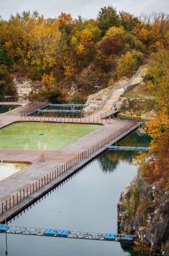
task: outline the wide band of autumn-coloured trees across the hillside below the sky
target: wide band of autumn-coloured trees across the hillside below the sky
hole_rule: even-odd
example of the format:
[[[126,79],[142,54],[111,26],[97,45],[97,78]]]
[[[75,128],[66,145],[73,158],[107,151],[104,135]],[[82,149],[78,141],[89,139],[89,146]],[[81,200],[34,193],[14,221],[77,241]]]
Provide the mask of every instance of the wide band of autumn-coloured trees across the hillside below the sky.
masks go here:
[[[131,75],[152,54],[168,47],[168,15],[137,18],[103,7],[97,20],[70,13],[44,18],[37,11],[0,20],[0,92],[14,94],[9,73],[42,81],[40,94],[62,96],[72,84],[82,94]]]

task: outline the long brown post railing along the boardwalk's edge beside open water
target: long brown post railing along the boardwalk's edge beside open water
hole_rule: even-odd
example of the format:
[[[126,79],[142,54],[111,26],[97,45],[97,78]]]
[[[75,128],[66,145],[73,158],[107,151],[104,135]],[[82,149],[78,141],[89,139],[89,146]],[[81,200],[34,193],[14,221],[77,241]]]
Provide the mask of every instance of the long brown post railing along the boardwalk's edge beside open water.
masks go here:
[[[70,170],[70,168],[76,166],[77,164],[80,164],[80,162],[87,160],[87,158],[90,158],[95,152],[105,147],[107,143],[110,143],[110,141],[113,141],[113,139],[119,137],[122,133],[125,133],[125,131],[135,126],[136,123],[132,121],[127,123],[126,125],[121,127],[121,129],[118,129],[117,131],[111,133],[111,135],[104,137],[103,139],[101,139],[101,141],[98,141],[93,146],[87,148],[87,150],[84,150],[80,154],[77,154],[76,156],[74,156],[74,158],[71,158],[64,164],[52,170],[52,172],[48,172],[46,175],[44,175],[37,181],[34,181],[34,183],[27,185],[26,187],[23,187],[23,189],[21,189],[20,191],[17,191],[15,195],[11,195],[10,197],[3,199],[1,201],[1,206],[0,206],[0,212],[1,212],[0,216],[5,214],[6,211],[11,210],[13,206],[21,203],[21,201],[23,201],[27,197],[30,197],[33,193],[40,191],[40,189],[42,189],[45,185],[56,180],[58,177],[61,178],[64,172],[66,172],[67,170]],[[56,181],[56,183],[58,182],[60,181]]]

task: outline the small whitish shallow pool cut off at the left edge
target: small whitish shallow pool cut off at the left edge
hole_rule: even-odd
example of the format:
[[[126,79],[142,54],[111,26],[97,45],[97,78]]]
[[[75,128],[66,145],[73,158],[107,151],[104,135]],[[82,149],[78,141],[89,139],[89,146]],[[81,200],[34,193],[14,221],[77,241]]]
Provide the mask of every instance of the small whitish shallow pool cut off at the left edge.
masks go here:
[[[0,181],[29,166],[24,163],[0,162]]]

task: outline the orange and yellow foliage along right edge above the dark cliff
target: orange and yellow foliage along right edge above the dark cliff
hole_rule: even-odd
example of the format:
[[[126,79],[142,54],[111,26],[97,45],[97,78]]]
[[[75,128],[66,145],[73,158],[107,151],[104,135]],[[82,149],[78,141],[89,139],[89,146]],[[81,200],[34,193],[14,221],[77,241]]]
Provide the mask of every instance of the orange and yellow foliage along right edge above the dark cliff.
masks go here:
[[[146,131],[152,137],[148,156],[141,154],[137,161],[141,174],[149,183],[169,190],[169,52],[152,54],[149,59],[146,83],[156,95],[158,112],[153,121],[146,122]]]

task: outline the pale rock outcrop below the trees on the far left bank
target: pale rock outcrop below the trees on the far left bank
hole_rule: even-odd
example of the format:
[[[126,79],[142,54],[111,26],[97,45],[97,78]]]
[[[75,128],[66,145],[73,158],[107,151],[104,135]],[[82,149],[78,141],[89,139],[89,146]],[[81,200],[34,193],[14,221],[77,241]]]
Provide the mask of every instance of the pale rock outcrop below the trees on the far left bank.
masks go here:
[[[40,91],[40,88],[42,87],[42,82],[36,81],[32,82],[31,79],[27,78],[19,78],[15,77],[13,78],[13,82],[15,84],[15,87],[17,89],[17,94],[19,97],[26,97],[30,93],[38,93]]]

